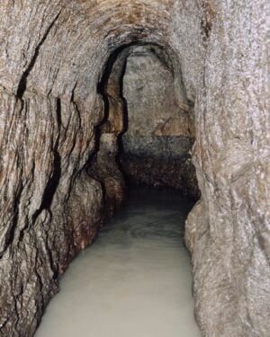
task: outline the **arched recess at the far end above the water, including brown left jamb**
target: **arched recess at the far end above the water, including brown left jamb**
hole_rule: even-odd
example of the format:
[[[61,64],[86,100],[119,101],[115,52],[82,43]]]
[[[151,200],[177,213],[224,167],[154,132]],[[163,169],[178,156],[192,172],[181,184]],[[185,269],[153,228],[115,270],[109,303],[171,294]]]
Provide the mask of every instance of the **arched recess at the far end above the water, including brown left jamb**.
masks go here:
[[[156,43],[132,42],[112,52],[104,68],[97,87],[104,118],[88,173],[103,183],[110,215],[126,184],[200,196],[191,162],[194,104],[172,55]]]

